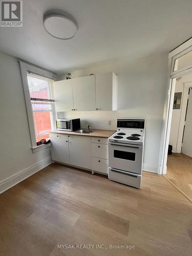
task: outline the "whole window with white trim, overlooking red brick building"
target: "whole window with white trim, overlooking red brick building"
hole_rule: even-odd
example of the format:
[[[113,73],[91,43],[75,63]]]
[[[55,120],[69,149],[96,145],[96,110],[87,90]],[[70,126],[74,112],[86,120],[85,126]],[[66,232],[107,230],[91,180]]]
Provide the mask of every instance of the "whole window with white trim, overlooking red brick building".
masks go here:
[[[55,129],[55,105],[53,81],[56,74],[20,61],[20,70],[24,86],[28,114],[31,148],[33,153],[43,147],[37,147],[37,141],[49,138],[49,131]],[[38,148],[38,149],[37,149]]]

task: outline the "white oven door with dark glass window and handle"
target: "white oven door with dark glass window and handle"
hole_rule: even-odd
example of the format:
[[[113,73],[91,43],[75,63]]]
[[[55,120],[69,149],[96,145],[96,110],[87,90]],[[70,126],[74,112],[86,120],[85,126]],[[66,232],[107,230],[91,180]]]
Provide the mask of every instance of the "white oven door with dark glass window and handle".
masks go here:
[[[109,167],[142,173],[143,146],[109,142]]]

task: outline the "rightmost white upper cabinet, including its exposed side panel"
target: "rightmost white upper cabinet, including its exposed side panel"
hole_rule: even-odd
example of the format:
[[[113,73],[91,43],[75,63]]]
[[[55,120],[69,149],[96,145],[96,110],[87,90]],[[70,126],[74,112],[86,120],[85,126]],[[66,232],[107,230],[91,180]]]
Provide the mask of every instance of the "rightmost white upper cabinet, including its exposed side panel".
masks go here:
[[[96,110],[117,110],[117,76],[113,73],[95,75]]]

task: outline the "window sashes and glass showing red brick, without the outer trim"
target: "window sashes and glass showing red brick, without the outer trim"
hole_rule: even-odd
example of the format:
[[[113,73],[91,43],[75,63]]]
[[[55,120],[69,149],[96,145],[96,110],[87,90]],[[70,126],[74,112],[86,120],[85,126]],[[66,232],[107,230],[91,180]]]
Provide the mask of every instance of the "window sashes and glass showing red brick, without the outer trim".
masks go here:
[[[49,138],[53,129],[52,79],[27,72],[36,141]]]

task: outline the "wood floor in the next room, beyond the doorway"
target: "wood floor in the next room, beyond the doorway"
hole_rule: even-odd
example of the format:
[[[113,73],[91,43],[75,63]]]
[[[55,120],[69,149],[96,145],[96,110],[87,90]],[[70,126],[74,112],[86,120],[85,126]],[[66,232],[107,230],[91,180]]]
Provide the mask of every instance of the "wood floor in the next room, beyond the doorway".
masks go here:
[[[166,179],[175,184],[192,202],[192,158],[184,154],[168,155]]]

